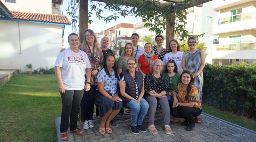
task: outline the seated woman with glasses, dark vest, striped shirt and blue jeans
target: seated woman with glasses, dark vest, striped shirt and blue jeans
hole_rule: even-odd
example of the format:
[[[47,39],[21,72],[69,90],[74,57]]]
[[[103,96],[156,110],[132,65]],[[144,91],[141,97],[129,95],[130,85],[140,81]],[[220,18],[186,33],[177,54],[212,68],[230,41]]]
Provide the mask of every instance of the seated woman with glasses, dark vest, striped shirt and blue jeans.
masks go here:
[[[139,134],[137,127],[141,132],[147,130],[142,126],[144,117],[148,112],[148,102],[143,99],[144,80],[143,76],[136,69],[136,59],[129,58],[127,60],[128,69],[121,73],[119,80],[121,99],[124,107],[131,109],[131,131],[133,134]]]

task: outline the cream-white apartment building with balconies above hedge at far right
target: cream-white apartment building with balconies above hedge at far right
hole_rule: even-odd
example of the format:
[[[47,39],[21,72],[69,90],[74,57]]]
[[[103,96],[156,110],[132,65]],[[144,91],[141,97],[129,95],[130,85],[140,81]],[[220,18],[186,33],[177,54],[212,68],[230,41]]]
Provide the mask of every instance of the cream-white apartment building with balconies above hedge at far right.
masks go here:
[[[212,48],[215,64],[256,61],[256,0],[214,0],[214,10],[213,34],[219,41]]]

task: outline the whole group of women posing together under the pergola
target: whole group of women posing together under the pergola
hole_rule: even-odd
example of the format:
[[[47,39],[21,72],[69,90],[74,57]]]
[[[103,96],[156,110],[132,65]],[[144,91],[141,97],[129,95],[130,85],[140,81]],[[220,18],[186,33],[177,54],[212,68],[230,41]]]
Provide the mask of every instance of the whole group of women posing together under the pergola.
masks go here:
[[[177,122],[177,118],[184,118],[181,125],[187,126],[187,131],[193,130],[195,121],[202,123],[197,116],[202,112],[205,56],[204,51],[196,49],[196,39],[190,37],[190,50],[182,53],[176,40],[171,40],[169,48],[164,49],[162,35],[156,36],[156,46],[145,43],[144,48],[138,45],[139,34],[133,33],[131,38],[132,43],[125,44],[116,63],[113,52],[107,48],[108,37],[103,37],[99,46],[90,29],[85,30],[82,45],[77,34],[68,36],[70,48],[61,49],[55,62],[62,99],[61,140],[68,139],[68,126],[71,133],[84,133],[76,124],[80,105],[83,128],[94,127],[94,103],[96,116],[101,119],[100,134],[113,133],[109,123],[123,113],[123,108],[131,112],[133,134],[139,134],[138,129],[147,131],[142,125],[147,113],[147,129],[158,133],[154,125],[158,105],[166,134],[172,133],[171,119]]]

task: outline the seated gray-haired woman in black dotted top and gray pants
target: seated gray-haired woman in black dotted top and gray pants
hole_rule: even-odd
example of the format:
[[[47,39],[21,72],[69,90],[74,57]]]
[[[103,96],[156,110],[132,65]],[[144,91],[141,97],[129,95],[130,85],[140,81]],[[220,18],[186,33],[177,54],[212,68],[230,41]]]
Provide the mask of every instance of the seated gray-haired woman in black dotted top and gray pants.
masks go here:
[[[144,98],[148,101],[148,130],[153,134],[158,134],[155,123],[155,114],[157,104],[162,108],[162,115],[164,117],[164,128],[166,134],[171,134],[172,129],[170,123],[170,108],[166,94],[169,93],[168,78],[161,73],[163,62],[159,59],[152,63],[151,73],[148,73],[144,79],[145,81],[145,95]]]

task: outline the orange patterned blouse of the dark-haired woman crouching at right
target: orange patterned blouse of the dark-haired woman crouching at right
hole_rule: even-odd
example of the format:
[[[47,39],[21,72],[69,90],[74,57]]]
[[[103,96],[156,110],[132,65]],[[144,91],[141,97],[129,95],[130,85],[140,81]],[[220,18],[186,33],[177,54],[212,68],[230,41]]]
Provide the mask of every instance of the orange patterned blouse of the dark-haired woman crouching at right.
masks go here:
[[[202,109],[201,103],[198,99],[198,90],[195,86],[192,86],[190,93],[188,94],[188,99],[185,99],[185,96],[187,94],[187,91],[182,89],[183,83],[179,83],[176,92],[178,93],[178,100],[179,102],[189,102],[189,101],[194,101],[196,102],[193,107],[200,108]]]

